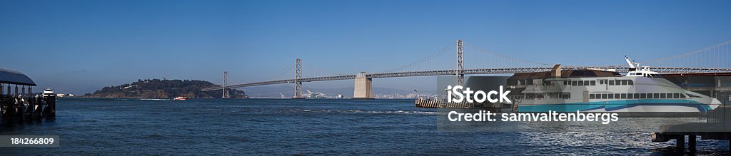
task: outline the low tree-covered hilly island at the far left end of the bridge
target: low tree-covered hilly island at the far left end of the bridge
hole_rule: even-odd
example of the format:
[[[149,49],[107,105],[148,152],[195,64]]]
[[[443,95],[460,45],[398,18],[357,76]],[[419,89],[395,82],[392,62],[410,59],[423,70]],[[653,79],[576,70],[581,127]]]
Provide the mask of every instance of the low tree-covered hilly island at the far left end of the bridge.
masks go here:
[[[202,80],[181,79],[137,79],[129,84],[104,87],[94,93],[85,95],[88,98],[221,98],[223,93],[203,92],[202,88],[216,87],[211,82]],[[231,98],[247,98],[242,90],[230,89]]]

